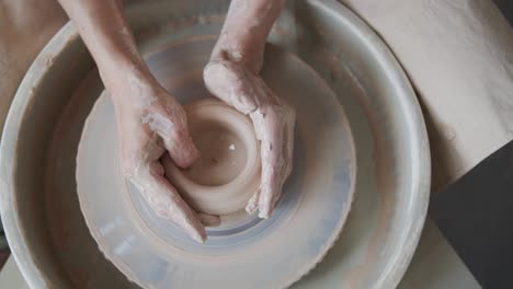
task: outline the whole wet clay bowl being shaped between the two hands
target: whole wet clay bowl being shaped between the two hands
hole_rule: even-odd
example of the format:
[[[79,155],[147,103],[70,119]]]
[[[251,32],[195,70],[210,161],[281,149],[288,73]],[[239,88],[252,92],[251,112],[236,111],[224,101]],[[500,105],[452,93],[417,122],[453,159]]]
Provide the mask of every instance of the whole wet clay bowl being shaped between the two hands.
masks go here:
[[[185,112],[200,158],[180,169],[166,155],[166,176],[198,212],[243,210],[260,186],[260,148],[251,120],[215,99],[193,102]]]

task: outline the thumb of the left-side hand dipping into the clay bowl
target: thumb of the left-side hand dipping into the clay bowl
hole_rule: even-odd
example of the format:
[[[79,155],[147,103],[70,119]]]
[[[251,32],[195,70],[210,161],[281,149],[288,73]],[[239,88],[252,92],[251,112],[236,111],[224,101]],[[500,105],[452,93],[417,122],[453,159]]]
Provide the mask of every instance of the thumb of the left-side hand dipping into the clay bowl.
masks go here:
[[[189,167],[200,158],[200,151],[194,144],[187,127],[161,134],[161,138],[169,155],[178,166]]]

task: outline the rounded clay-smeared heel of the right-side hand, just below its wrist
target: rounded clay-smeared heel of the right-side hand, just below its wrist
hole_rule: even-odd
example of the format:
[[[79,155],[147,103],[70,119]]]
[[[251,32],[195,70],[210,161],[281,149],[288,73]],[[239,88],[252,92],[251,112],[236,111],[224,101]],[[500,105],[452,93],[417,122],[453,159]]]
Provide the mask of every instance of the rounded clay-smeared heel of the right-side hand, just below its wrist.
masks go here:
[[[209,62],[203,72],[208,91],[243,114],[258,106],[251,77],[242,66],[224,60]]]

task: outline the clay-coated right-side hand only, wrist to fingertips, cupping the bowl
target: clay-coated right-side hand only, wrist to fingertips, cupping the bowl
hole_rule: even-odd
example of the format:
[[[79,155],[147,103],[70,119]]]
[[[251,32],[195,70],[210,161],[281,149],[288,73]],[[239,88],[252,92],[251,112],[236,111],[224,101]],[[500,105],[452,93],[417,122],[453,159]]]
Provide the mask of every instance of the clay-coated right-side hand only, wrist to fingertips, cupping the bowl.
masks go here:
[[[253,122],[261,141],[262,178],[260,192],[251,197],[246,210],[259,210],[259,217],[266,219],[292,171],[295,112],[240,61],[212,60],[205,67],[204,80],[214,95]]]

